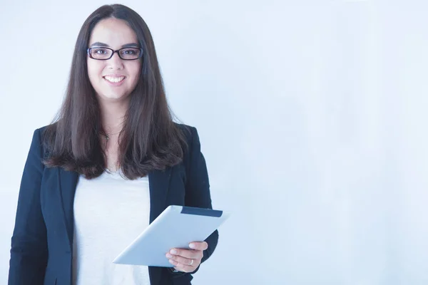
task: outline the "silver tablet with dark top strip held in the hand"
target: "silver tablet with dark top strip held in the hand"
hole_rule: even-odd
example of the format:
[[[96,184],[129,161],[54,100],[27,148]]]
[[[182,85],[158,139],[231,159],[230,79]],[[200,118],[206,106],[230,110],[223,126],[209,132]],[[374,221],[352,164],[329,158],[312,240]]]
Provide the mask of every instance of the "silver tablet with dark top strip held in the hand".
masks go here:
[[[229,215],[216,209],[168,206],[113,263],[173,267],[165,257],[170,249],[190,249],[190,242],[203,242]]]

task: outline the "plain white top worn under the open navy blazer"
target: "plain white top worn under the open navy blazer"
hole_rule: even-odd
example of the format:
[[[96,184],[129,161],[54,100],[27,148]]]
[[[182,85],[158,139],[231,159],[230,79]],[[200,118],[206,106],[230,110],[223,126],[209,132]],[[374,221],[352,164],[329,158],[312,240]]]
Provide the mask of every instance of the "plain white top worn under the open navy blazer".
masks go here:
[[[148,266],[113,259],[149,224],[148,177],[127,180],[120,172],[79,177],[74,197],[73,284],[149,285]]]

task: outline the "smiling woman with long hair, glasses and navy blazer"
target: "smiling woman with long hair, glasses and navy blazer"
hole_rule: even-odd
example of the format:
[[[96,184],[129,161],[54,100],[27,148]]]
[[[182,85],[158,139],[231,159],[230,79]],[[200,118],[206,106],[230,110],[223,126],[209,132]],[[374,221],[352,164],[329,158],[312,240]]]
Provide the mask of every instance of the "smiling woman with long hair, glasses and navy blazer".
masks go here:
[[[141,16],[102,6],[78,34],[58,118],[34,132],[9,284],[190,284],[217,231],[165,254],[174,269],[111,262],[170,204],[211,208],[198,133],[173,123]]]

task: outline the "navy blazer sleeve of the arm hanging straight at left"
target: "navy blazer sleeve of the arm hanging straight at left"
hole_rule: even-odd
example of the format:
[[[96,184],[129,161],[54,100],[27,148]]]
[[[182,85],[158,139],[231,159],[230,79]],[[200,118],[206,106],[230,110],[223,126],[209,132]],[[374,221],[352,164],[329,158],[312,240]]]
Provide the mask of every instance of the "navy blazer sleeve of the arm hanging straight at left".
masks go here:
[[[9,285],[43,284],[48,259],[46,225],[41,213],[40,187],[44,165],[40,130],[35,130],[19,189],[11,238]]]

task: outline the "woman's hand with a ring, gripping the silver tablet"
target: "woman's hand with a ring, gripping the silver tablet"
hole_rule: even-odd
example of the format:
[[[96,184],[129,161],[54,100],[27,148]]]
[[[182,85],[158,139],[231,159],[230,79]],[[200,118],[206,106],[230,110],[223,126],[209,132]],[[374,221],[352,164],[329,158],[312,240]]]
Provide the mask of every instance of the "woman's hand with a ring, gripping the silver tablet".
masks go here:
[[[189,244],[191,249],[171,249],[166,258],[169,259],[170,264],[174,265],[174,269],[183,272],[193,272],[200,265],[203,257],[203,251],[208,249],[206,242],[191,242]]]

